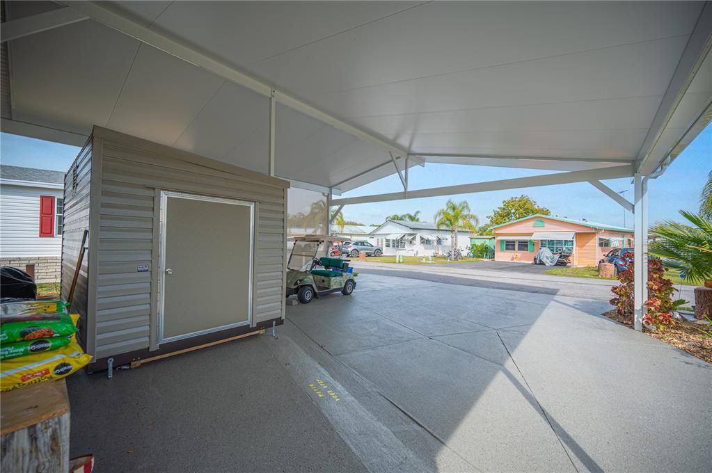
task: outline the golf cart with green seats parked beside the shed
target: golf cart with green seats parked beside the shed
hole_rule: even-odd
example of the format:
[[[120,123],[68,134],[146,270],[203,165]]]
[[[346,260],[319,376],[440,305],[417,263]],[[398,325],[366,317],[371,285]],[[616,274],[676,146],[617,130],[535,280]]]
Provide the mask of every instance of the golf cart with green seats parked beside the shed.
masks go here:
[[[297,294],[299,302],[308,304],[314,297],[340,291],[350,295],[356,287],[349,260],[339,257],[317,257],[322,243],[342,243],[347,238],[330,235],[304,235],[294,238],[287,263],[287,297]]]

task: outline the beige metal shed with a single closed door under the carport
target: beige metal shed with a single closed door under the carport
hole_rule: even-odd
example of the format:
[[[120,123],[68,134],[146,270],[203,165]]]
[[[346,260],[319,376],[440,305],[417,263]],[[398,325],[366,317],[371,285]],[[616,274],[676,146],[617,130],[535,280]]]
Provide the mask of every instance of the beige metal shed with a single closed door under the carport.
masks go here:
[[[282,324],[287,181],[109,129],[65,180],[62,295],[90,371]]]

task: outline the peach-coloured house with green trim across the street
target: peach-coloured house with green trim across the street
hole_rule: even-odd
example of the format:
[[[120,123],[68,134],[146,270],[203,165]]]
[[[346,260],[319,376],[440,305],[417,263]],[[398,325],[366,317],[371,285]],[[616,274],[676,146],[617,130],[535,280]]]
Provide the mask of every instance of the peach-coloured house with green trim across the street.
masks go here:
[[[612,248],[633,246],[633,230],[614,225],[533,215],[495,225],[496,261],[533,262],[539,248],[572,251],[575,266],[595,266]]]

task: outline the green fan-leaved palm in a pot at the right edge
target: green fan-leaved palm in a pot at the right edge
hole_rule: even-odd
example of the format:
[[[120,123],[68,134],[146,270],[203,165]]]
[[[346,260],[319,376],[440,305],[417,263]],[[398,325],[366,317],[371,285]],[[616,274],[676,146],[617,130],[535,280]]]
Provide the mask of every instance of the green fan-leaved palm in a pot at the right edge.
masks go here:
[[[712,221],[701,215],[680,211],[692,225],[665,220],[654,225],[656,237],[648,253],[663,258],[667,267],[679,270],[689,282],[712,287]],[[712,292],[695,289],[695,317],[712,317]]]

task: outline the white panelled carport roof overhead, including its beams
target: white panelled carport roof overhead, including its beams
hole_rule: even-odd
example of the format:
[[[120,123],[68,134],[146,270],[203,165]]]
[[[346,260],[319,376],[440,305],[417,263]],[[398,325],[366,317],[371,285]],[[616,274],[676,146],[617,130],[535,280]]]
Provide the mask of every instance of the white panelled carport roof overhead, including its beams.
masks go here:
[[[709,2],[4,4],[4,131],[98,124],[319,188],[389,153],[649,174],[712,115]]]

